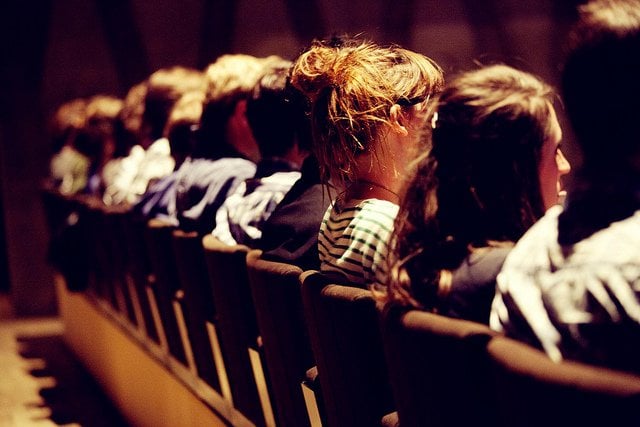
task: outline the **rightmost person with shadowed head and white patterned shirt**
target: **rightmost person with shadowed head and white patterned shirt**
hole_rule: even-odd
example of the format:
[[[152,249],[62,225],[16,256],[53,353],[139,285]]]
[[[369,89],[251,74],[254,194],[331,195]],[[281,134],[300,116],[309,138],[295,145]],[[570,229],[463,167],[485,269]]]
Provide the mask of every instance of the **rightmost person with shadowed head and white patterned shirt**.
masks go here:
[[[556,361],[639,373],[640,5],[589,2],[570,40],[562,91],[583,163],[505,261],[491,326]]]

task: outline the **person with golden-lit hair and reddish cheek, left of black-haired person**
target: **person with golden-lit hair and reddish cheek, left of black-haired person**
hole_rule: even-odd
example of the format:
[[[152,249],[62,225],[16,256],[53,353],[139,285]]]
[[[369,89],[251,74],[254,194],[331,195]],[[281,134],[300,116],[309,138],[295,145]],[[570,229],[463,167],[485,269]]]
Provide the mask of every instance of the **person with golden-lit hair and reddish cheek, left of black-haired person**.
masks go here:
[[[193,145],[180,167],[144,195],[138,204],[144,216],[184,231],[211,232],[222,203],[255,175],[259,153],[247,123],[247,99],[269,64],[280,60],[223,55],[207,67],[204,99],[189,107],[199,116],[190,129]]]

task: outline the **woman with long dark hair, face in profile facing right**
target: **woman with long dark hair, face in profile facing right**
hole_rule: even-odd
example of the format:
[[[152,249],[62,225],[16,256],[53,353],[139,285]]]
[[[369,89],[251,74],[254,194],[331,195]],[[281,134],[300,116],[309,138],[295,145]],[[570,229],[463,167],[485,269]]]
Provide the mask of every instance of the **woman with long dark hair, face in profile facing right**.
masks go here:
[[[379,287],[388,303],[489,323],[507,253],[569,171],[552,101],[549,86],[504,65],[446,85],[396,218]]]

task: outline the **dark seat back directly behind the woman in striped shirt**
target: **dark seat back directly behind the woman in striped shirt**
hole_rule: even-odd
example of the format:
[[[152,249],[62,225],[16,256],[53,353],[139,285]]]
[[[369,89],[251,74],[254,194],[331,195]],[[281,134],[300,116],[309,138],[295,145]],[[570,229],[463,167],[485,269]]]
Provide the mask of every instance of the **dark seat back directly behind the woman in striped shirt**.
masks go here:
[[[371,292],[317,271],[301,281],[328,425],[380,425],[394,404]]]

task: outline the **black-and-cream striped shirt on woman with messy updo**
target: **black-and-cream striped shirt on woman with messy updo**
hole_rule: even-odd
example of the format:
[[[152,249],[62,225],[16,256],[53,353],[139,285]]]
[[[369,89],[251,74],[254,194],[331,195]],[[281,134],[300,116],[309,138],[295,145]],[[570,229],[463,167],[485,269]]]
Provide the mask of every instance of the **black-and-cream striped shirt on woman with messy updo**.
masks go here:
[[[320,234],[320,270],[336,273],[350,284],[367,286],[386,277],[387,242],[398,205],[378,200],[356,200],[327,209]]]

